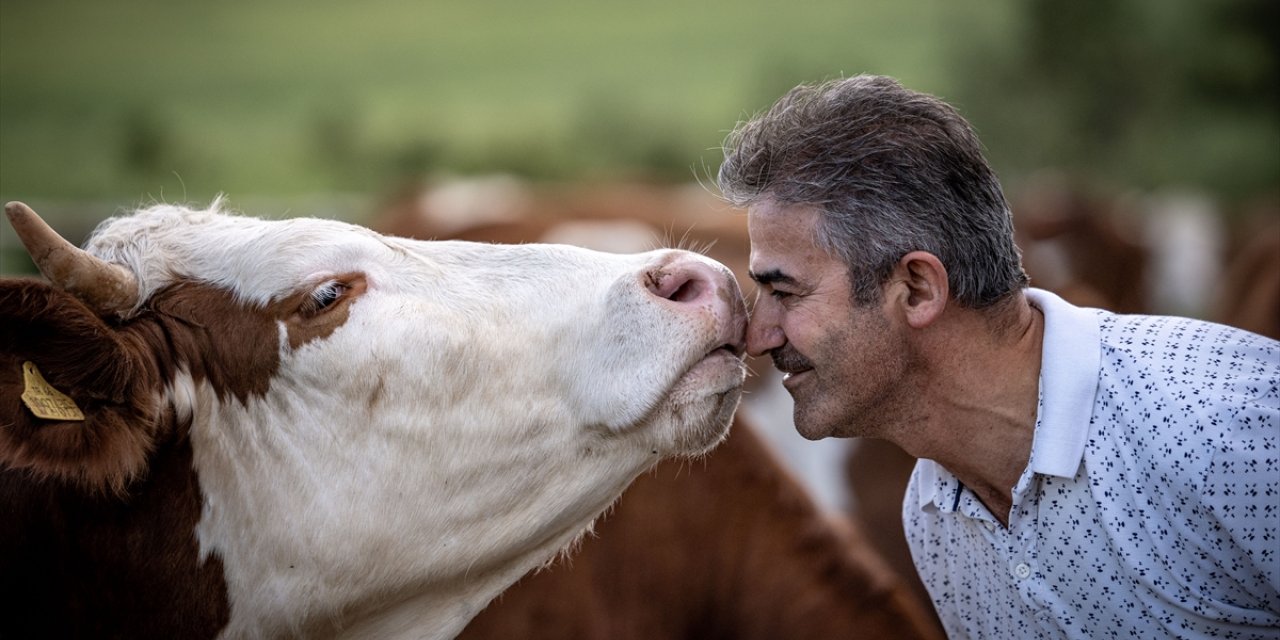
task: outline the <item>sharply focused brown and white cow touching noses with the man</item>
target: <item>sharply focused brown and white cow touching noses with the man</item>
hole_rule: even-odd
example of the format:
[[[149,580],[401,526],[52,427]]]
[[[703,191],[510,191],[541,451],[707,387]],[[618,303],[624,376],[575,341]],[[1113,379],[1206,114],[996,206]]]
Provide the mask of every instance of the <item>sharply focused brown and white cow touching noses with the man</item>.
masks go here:
[[[737,406],[705,257],[218,209],[6,206],[0,636],[449,637]]]

